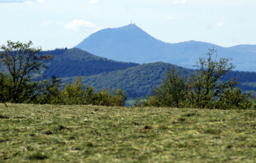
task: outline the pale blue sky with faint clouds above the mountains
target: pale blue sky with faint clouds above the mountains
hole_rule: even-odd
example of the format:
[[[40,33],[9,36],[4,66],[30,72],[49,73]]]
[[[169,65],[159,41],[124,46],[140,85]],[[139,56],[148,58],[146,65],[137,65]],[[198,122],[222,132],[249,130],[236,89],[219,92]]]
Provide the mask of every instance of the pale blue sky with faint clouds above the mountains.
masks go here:
[[[135,23],[169,43],[256,44],[255,0],[0,0],[0,45],[73,48],[92,33]]]

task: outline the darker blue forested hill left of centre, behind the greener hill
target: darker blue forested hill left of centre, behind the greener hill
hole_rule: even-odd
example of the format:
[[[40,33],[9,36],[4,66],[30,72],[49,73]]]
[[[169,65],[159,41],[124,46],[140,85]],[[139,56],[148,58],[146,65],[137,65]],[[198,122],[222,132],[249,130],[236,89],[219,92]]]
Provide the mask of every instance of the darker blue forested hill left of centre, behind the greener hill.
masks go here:
[[[90,76],[103,72],[126,69],[138,63],[118,62],[98,57],[80,49],[56,49],[44,51],[55,56],[46,69],[45,75],[62,77]]]

